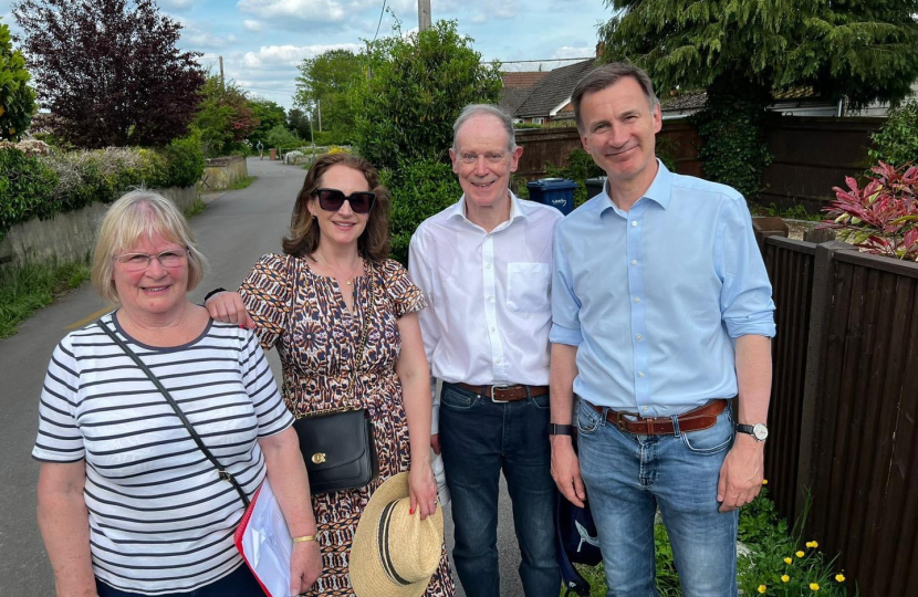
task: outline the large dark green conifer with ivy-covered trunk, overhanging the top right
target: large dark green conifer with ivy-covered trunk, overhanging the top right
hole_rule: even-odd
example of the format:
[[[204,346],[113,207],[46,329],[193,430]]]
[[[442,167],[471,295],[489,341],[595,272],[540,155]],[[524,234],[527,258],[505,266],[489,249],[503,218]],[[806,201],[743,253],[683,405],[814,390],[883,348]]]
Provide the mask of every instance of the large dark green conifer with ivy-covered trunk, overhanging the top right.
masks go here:
[[[915,0],[605,3],[615,15],[599,29],[603,59],[636,63],[665,92],[707,88],[706,175],[747,196],[770,159],[762,121],[774,91],[807,88],[859,107],[901,101],[918,77]]]

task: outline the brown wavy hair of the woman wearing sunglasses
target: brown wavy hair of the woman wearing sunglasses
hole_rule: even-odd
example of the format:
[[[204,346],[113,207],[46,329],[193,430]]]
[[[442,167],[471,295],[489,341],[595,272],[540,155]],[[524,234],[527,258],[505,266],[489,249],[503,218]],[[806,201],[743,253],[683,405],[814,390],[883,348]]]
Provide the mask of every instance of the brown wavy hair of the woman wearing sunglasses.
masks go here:
[[[376,193],[376,202],[369,212],[357,251],[369,261],[383,261],[389,256],[389,190],[379,181],[379,172],[367,160],[352,154],[325,154],[310,168],[303,188],[296,196],[293,216],[290,218],[290,234],[283,239],[283,251],[289,255],[304,256],[319,248],[319,224],[309,210],[310,201],[315,199],[315,191],[322,188],[322,177],[332,166],[347,166],[364,175],[369,190]]]

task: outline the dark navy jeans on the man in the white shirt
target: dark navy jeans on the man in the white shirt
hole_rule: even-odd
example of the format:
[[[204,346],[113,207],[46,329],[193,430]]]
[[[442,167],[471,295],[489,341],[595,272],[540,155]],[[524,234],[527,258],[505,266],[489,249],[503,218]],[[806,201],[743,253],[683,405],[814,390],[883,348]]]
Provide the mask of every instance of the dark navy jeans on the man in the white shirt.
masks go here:
[[[456,572],[469,597],[500,596],[500,472],[513,503],[526,597],[557,597],[549,396],[492,402],[452,384],[440,396],[440,448],[456,524]]]

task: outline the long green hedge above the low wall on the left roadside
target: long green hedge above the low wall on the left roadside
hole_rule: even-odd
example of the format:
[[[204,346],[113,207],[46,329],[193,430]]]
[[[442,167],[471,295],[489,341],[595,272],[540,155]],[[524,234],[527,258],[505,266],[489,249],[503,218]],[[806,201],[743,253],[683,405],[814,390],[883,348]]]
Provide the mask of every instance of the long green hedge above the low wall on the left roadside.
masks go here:
[[[30,157],[0,149],[0,240],[11,227],[92,202],[111,203],[137,187],[190,187],[204,174],[200,139],[163,149],[109,147]]]

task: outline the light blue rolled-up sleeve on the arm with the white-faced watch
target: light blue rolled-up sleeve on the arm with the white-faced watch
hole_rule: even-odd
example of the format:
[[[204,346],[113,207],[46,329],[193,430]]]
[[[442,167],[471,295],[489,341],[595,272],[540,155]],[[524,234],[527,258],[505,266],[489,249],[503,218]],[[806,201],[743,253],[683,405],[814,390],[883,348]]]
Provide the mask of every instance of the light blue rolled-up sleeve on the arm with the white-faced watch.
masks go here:
[[[716,264],[723,285],[720,310],[731,338],[774,337],[774,302],[752,218],[742,197],[728,198],[718,222]]]

